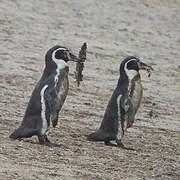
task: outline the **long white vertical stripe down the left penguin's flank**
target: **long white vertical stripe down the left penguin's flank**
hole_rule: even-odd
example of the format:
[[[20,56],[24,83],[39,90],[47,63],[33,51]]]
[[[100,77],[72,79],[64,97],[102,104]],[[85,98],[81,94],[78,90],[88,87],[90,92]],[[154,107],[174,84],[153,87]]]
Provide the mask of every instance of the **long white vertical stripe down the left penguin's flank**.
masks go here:
[[[40,96],[41,96],[41,118],[42,118],[42,129],[41,129],[41,133],[45,134],[47,132],[48,129],[48,124],[47,124],[47,120],[46,120],[46,104],[45,104],[45,100],[44,100],[44,92],[46,90],[46,88],[48,87],[48,85],[45,85],[40,92]]]

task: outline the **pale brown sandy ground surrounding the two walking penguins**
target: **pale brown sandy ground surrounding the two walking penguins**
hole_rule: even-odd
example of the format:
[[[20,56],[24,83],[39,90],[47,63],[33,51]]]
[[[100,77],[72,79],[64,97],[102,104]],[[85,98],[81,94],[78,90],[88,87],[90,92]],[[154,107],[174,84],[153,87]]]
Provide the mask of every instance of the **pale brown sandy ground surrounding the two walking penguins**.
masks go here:
[[[180,1],[1,0],[0,179],[180,179]],[[64,45],[76,54],[88,43],[78,88],[70,63],[69,96],[50,129],[52,142],[12,141],[46,51]],[[124,57],[153,66],[142,72],[144,97],[125,144],[135,151],[89,142],[100,125]],[[152,115],[152,116],[151,116]]]

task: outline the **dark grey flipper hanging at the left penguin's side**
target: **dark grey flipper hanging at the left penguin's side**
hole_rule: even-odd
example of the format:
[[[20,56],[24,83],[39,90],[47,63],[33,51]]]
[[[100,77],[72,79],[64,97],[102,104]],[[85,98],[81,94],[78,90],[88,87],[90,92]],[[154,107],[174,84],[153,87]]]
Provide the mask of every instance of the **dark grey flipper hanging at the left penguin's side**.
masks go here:
[[[59,98],[56,89],[54,87],[51,89],[47,89],[44,94],[44,98],[49,107],[52,125],[53,127],[56,127],[59,115]]]

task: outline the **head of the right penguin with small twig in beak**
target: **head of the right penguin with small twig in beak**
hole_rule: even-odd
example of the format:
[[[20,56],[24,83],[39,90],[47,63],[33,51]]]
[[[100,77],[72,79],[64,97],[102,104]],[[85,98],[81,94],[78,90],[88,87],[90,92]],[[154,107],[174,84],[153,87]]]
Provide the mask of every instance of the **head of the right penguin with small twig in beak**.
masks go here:
[[[125,73],[128,78],[133,78],[139,73],[139,70],[146,70],[150,72],[153,68],[134,56],[125,58],[120,65],[120,74]]]

